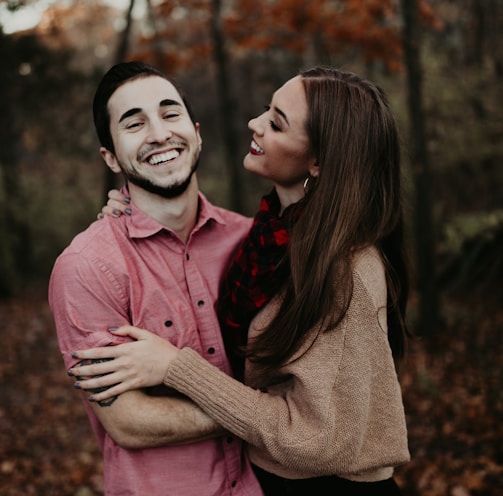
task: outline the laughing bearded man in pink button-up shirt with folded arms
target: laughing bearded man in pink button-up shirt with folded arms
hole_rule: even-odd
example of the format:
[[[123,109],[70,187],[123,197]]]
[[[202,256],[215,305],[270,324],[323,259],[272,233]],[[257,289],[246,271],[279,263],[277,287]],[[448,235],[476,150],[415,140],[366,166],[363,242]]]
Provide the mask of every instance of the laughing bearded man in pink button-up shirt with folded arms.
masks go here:
[[[93,223],[55,263],[49,302],[67,369],[72,351],[118,344],[124,338],[107,329],[129,323],[230,373],[214,303],[251,220],[199,192],[199,124],[163,74],[137,62],[112,67],[93,111],[101,156],[126,179],[134,215]],[[241,441],[174,392],[83,399],[107,496],[262,494]]]

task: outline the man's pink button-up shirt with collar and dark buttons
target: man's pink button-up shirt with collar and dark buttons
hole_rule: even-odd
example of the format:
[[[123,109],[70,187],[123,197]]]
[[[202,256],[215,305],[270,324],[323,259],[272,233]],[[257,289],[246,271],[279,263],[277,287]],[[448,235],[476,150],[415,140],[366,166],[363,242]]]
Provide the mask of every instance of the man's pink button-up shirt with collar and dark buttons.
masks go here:
[[[59,256],[49,302],[67,368],[76,362],[72,351],[119,343],[125,338],[107,328],[130,323],[190,346],[230,373],[214,303],[251,219],[217,208],[203,195],[199,206],[186,244],[132,206],[131,217],[94,222]],[[84,404],[103,451],[107,495],[262,494],[239,439],[127,450]]]

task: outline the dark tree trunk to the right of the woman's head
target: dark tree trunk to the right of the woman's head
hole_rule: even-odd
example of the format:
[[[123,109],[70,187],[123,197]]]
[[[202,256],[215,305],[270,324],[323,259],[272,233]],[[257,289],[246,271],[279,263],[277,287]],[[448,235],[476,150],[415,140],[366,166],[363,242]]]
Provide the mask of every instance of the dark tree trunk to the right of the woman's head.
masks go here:
[[[439,326],[438,292],[435,274],[435,236],[432,215],[432,182],[426,143],[422,103],[422,69],[417,23],[417,1],[401,0],[403,40],[407,67],[410,118],[411,167],[415,185],[415,251],[419,295],[418,333],[431,336]]]

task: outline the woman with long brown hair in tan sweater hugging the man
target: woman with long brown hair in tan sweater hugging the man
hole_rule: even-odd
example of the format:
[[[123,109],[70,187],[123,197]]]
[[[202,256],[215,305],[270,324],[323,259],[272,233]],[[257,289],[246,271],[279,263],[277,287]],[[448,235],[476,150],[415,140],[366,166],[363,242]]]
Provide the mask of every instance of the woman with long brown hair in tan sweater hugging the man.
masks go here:
[[[137,342],[76,353],[120,361],[73,372],[108,374],[82,389],[116,384],[96,401],[161,383],[187,395],[248,442],[266,494],[400,494],[393,469],[409,453],[394,358],[407,277],[389,104],[371,82],[319,67],[278,89],[249,128],[244,166],[274,190],[219,305],[244,384],[133,327],[112,332]]]

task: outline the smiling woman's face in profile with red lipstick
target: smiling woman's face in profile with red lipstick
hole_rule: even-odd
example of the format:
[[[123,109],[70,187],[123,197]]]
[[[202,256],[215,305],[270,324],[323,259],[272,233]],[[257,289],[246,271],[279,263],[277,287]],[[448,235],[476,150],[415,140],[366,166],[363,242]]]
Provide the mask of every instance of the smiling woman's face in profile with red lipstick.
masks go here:
[[[248,123],[253,140],[245,169],[271,179],[278,190],[303,195],[306,178],[317,175],[316,160],[309,153],[307,114],[304,85],[296,76],[274,93],[262,115]]]

